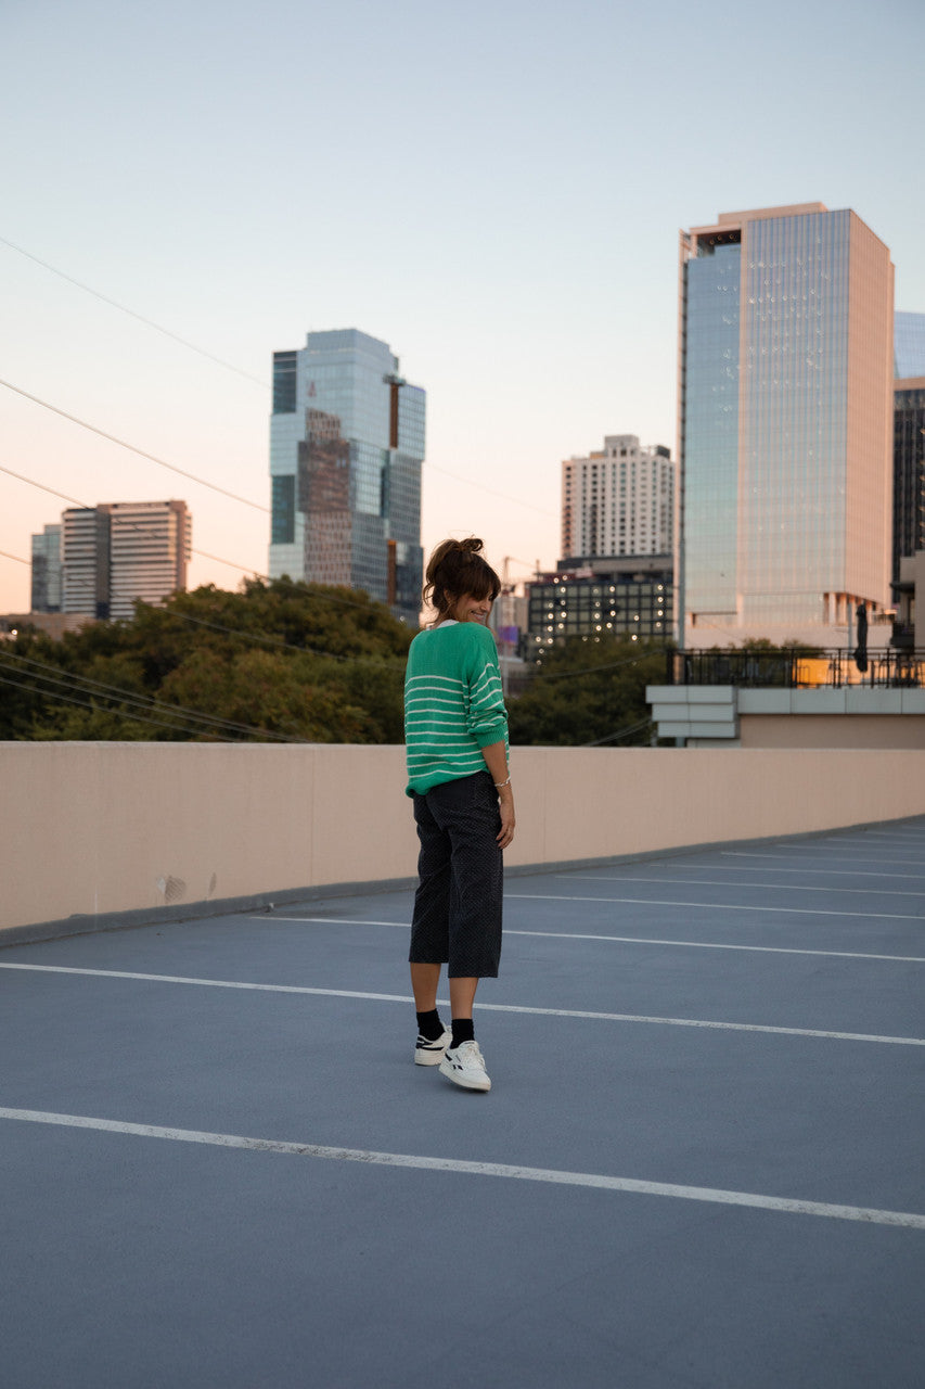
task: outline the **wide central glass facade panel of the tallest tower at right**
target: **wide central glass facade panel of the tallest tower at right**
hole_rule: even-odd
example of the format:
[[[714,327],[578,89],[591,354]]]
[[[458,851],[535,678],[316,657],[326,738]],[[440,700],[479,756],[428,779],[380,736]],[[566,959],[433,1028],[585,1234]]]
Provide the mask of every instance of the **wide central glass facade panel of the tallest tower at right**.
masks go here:
[[[821,213],[747,228],[739,563],[746,621],[822,622],[824,593],[844,588],[849,219]]]

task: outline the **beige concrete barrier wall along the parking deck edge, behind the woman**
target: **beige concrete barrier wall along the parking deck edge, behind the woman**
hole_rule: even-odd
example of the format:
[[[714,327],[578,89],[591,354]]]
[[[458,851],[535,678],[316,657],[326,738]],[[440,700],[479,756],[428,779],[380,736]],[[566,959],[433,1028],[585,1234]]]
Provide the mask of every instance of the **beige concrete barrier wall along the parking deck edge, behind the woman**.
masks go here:
[[[925,813],[925,750],[515,747],[510,865]],[[0,931],[410,878],[403,747],[0,743]]]

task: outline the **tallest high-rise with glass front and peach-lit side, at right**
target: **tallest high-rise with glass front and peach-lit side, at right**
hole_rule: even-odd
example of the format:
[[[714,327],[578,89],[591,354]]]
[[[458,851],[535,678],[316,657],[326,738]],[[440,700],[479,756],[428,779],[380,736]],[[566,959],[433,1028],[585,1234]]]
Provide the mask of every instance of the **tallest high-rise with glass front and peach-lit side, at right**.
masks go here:
[[[858,603],[888,606],[892,386],[893,265],[853,211],[681,233],[688,640],[836,644]]]

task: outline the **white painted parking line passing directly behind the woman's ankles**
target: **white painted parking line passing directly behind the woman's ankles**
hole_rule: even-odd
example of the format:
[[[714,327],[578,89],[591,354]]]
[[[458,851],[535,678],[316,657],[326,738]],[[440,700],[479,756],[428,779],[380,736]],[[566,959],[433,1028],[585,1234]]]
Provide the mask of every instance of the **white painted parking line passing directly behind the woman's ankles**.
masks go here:
[[[0,964],[0,970],[33,970],[43,974],[79,974],[103,979],[140,979],[146,983],[192,983],[206,989],[251,989],[258,993],[307,993],[329,999],[361,999],[374,1003],[412,1003],[410,996],[400,993],[362,993],[353,989],[311,989],[294,983],[242,983],[229,979],[196,979],[172,974],[129,974],[124,970],[78,970],[74,965],[53,964]],[[447,999],[438,1000],[440,1006]],[[835,1042],[883,1042],[890,1046],[925,1046],[925,1038],[888,1038],[869,1032],[819,1032],[812,1028],[775,1028],[760,1022],[712,1022],[701,1018],[656,1018],[638,1013],[589,1013],[579,1008],[533,1008],[514,1003],[478,1003],[486,1013],[525,1013],[543,1018],[583,1018],[594,1022],[650,1022],[674,1028],[708,1028],[719,1032],[771,1032],[776,1036],[826,1038]]]

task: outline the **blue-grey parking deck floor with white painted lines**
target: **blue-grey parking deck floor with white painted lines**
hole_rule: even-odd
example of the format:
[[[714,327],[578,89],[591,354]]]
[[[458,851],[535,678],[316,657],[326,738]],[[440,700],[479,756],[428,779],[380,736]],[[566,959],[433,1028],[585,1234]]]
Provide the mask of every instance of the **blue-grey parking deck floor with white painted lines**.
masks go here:
[[[899,1389],[925,818],[511,876],[490,1095],[408,892],[0,951],[4,1389]]]

